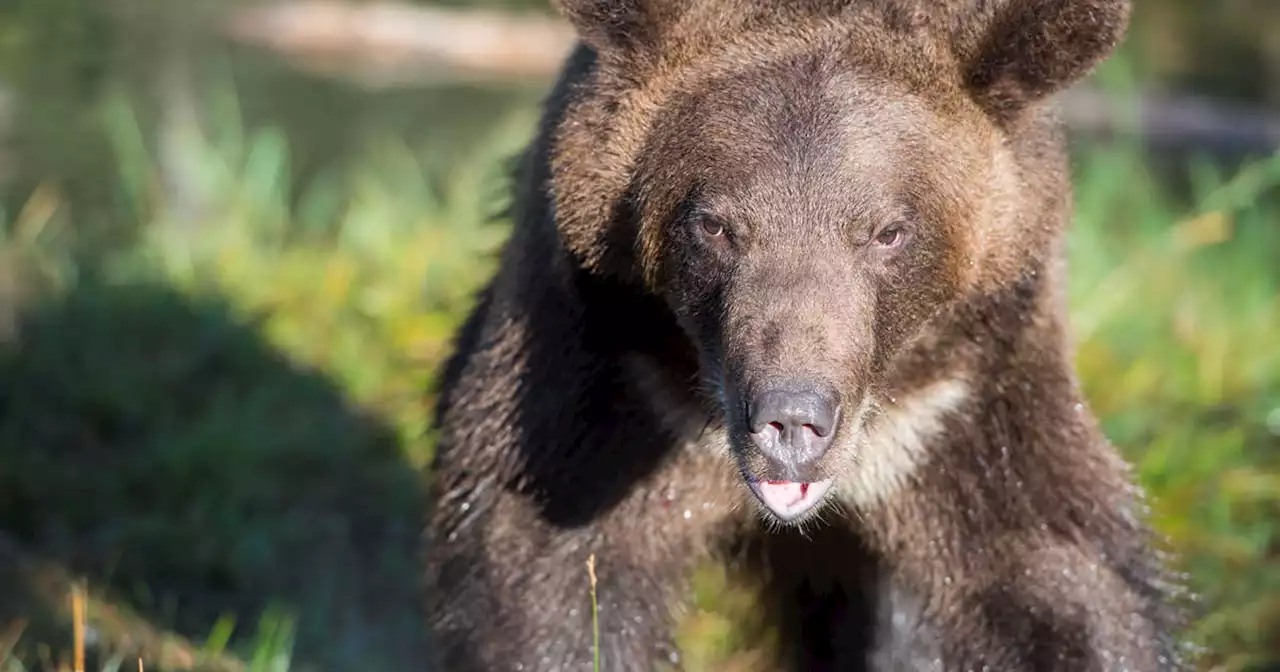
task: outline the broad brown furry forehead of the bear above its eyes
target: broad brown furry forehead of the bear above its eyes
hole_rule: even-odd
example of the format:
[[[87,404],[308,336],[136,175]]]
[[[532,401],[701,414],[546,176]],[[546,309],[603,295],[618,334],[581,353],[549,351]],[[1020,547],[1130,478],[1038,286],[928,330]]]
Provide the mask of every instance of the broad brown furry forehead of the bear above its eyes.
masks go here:
[[[805,54],[686,84],[657,109],[637,168],[726,216],[812,205],[893,218],[905,201],[965,198],[964,186],[983,178],[992,138],[973,119],[874,70]]]

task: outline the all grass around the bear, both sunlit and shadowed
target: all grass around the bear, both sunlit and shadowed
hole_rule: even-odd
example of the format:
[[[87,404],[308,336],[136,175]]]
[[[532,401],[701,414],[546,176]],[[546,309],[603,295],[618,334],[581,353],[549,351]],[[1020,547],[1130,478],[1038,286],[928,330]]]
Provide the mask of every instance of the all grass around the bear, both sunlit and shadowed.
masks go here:
[[[125,250],[84,255],[56,184],[3,218],[3,672],[76,649],[68,623],[87,623],[92,669],[424,655],[425,390],[493,271],[500,159],[534,110],[466,161],[378,137],[300,189],[284,136],[243,128],[232,91],[206,91],[216,124],[180,147],[196,207],[169,197],[127,101],[104,104],[140,223]],[[1280,160],[1193,163],[1187,206],[1132,147],[1078,159],[1087,394],[1202,595],[1188,636],[1203,668],[1280,664]],[[67,613],[74,577],[83,618]],[[749,591],[716,567],[695,586],[684,660],[749,668],[768,643]]]

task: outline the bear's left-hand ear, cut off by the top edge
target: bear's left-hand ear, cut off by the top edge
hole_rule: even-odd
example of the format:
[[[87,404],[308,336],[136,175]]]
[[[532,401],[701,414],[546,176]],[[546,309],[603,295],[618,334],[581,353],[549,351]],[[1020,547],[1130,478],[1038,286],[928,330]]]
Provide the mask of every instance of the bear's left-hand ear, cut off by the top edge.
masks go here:
[[[680,0],[552,0],[552,5],[596,51],[652,45]]]

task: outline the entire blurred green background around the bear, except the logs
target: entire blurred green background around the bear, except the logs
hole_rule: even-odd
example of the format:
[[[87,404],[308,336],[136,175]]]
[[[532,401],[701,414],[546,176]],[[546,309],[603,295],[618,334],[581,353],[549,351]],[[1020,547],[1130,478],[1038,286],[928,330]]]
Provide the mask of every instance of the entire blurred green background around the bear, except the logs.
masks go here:
[[[248,4],[0,3],[0,672],[426,650],[428,390],[548,82],[325,73],[218,29]],[[1280,3],[1139,3],[1092,83],[1277,116]],[[1201,668],[1276,671],[1280,137],[1219,140],[1076,137],[1070,298]],[[751,669],[750,593],[695,585],[690,669]]]

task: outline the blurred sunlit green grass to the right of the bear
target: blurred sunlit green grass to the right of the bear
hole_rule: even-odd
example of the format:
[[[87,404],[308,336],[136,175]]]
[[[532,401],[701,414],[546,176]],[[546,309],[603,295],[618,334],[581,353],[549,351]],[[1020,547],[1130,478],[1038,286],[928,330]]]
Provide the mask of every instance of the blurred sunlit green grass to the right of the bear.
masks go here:
[[[1082,166],[1071,308],[1091,403],[1203,598],[1192,634],[1248,669],[1280,660],[1280,157],[1197,168],[1175,218],[1130,156]]]

